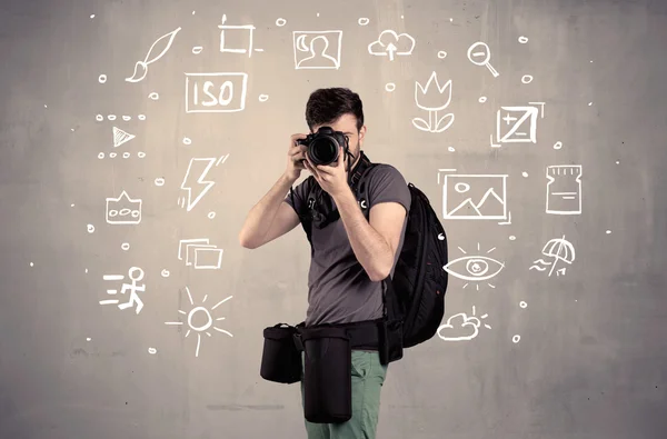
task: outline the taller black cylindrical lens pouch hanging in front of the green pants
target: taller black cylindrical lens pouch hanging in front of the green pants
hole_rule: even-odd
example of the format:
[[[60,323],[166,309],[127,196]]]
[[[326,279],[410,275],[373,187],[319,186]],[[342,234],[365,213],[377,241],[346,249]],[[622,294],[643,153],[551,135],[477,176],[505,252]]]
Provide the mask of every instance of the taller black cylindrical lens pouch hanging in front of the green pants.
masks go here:
[[[338,423],[352,417],[352,352],[345,329],[301,329],[303,413],[309,422]]]

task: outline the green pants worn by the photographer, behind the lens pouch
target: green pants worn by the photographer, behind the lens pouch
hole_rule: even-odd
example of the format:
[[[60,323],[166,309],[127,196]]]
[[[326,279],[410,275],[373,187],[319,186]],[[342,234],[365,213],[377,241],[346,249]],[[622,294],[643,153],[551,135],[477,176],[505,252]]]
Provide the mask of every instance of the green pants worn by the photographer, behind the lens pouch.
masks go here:
[[[380,390],[386,376],[387,366],[380,365],[378,352],[352,350],[352,418],[342,423],[313,423],[305,420],[308,439],[375,439]]]

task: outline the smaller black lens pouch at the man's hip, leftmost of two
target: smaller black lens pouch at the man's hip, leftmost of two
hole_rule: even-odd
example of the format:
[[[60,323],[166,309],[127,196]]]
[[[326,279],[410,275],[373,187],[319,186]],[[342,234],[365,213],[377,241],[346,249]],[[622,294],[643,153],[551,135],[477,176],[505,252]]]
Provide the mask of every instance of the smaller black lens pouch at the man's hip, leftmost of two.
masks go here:
[[[291,385],[301,380],[301,352],[297,350],[293,335],[297,328],[278,323],[263,330],[263,352],[259,375],[261,378]]]

